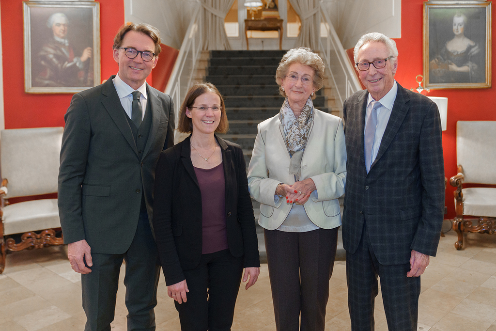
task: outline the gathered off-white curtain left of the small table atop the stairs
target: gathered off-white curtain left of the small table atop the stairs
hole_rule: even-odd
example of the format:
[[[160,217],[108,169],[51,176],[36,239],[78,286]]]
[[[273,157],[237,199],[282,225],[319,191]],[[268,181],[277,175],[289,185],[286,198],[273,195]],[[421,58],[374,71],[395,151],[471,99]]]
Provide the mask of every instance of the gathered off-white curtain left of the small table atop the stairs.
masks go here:
[[[234,0],[201,0],[203,10],[203,50],[230,50],[224,19]]]

